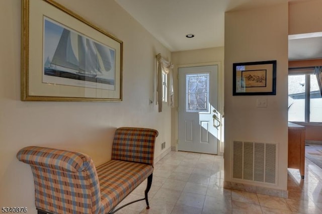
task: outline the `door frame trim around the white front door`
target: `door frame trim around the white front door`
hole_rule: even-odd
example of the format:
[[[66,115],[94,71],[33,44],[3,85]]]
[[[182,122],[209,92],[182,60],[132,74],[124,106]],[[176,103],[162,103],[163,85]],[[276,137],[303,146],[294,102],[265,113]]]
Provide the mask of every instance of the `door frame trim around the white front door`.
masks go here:
[[[205,62],[205,63],[194,63],[194,64],[182,64],[175,66],[175,73],[174,73],[174,83],[175,85],[175,108],[172,109],[172,124],[173,124],[173,137],[172,137],[172,151],[178,151],[179,148],[179,112],[178,112],[178,105],[179,105],[179,68],[183,67],[198,67],[198,66],[208,66],[208,65],[217,65],[218,66],[218,113],[220,115],[220,132],[218,133],[219,141],[218,141],[218,148],[217,148],[217,155],[223,156],[224,153],[224,75],[223,75],[223,68],[222,62],[214,61],[214,62]]]

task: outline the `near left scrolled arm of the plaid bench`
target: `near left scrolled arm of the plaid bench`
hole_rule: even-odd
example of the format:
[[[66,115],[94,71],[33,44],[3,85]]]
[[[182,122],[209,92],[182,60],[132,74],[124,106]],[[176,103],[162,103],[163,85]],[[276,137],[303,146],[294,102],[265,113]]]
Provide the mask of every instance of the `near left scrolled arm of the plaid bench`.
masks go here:
[[[99,213],[100,184],[88,155],[28,146],[18,152],[17,158],[31,166],[38,213]]]

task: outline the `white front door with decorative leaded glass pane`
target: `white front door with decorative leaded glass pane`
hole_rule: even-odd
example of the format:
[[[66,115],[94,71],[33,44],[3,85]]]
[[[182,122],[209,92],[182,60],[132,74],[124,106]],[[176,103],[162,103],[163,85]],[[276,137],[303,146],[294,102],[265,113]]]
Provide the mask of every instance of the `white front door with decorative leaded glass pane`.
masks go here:
[[[217,154],[218,65],[179,68],[179,150]]]

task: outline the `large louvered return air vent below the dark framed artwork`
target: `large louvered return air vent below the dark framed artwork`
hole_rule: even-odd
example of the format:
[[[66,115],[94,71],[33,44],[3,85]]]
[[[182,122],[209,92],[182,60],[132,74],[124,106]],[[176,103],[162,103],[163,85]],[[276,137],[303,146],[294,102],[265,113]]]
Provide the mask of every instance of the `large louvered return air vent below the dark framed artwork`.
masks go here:
[[[233,141],[232,177],[276,184],[276,143]]]

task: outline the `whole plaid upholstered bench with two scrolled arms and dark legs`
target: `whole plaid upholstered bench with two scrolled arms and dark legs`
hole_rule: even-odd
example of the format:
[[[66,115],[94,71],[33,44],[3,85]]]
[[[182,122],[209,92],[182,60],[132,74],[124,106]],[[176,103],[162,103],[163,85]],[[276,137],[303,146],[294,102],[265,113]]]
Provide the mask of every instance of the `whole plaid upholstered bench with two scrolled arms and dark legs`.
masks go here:
[[[17,158],[31,166],[38,214],[114,213],[140,200],[149,208],[157,135],[153,129],[117,129],[112,160],[97,167],[83,153],[37,146],[21,149]],[[115,209],[146,178],[145,197]]]

